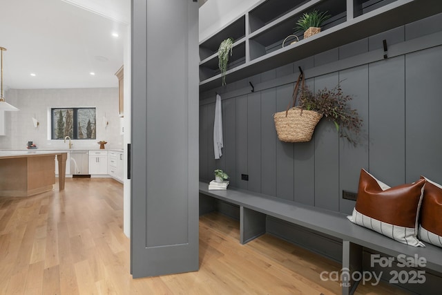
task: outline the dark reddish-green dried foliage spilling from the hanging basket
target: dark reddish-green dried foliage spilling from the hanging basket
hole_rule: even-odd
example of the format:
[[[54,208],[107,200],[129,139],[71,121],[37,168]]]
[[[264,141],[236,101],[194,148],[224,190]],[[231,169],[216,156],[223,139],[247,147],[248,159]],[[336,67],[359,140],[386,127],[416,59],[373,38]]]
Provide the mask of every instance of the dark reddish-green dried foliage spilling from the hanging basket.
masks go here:
[[[339,85],[332,90],[323,88],[316,94],[305,86],[299,97],[299,106],[323,114],[326,120],[334,122],[340,137],[346,138],[356,146],[356,135],[361,129],[362,119],[358,111],[350,108],[348,104],[350,100],[352,97],[343,95]]]

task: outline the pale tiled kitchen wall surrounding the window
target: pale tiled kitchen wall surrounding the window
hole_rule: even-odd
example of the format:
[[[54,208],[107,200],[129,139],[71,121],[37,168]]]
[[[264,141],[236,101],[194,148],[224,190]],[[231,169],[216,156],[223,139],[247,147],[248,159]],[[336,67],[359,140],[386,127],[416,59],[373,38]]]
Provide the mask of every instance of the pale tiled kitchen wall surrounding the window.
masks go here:
[[[73,149],[97,149],[100,140],[108,142],[106,149],[122,149],[118,88],[9,89],[5,97],[20,111],[5,113],[6,135],[0,136],[0,149],[26,149],[28,141],[41,149],[68,148],[64,140],[48,140],[48,110],[54,107],[97,108],[97,139],[73,140]],[[102,124],[105,115],[106,128]],[[32,117],[39,122],[37,128],[32,124]]]

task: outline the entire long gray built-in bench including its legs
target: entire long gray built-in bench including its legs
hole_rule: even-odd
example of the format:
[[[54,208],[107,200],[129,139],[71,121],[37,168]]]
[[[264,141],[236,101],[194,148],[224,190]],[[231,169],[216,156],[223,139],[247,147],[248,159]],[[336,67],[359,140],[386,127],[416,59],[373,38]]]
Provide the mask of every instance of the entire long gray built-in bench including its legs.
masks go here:
[[[399,254],[405,254],[408,257],[417,255],[427,260],[425,265],[427,269],[442,273],[442,249],[439,247],[428,244],[426,247],[407,246],[365,227],[354,225],[347,220],[343,213],[289,202],[234,187],[229,187],[224,191],[209,191],[209,184],[206,182],[200,182],[200,194],[240,207],[240,242],[242,244],[265,234],[266,216],[273,216],[342,240],[343,269],[349,269],[349,274],[362,271],[363,247],[394,258]],[[205,207],[209,208],[210,206]],[[351,278],[345,276],[343,276],[342,283],[343,294],[353,294],[358,285],[358,282],[352,282]]]

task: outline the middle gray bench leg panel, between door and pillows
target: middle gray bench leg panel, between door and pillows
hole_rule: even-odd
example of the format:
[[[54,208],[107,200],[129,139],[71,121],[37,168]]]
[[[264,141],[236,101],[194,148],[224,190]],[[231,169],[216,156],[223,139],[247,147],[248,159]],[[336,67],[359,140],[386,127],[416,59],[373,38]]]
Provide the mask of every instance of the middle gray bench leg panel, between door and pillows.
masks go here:
[[[264,213],[240,207],[240,242],[242,245],[265,234]]]

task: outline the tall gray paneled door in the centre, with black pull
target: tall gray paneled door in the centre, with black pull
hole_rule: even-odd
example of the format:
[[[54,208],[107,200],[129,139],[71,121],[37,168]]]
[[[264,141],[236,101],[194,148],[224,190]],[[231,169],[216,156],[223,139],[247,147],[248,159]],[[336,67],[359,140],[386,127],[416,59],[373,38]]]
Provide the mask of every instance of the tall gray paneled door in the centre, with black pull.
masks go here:
[[[131,273],[198,270],[198,3],[133,0]]]

